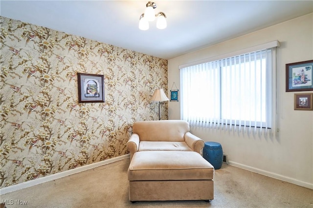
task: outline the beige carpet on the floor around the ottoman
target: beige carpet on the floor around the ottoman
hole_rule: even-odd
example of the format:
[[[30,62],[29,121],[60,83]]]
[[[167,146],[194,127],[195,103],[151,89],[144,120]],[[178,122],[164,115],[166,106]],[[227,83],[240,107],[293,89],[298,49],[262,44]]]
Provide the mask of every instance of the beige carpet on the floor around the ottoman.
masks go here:
[[[223,164],[215,171],[214,200],[128,200],[129,158],[1,195],[7,208],[313,208],[313,190]],[[166,187],[164,187],[166,188]],[[15,200],[27,201],[17,205]]]

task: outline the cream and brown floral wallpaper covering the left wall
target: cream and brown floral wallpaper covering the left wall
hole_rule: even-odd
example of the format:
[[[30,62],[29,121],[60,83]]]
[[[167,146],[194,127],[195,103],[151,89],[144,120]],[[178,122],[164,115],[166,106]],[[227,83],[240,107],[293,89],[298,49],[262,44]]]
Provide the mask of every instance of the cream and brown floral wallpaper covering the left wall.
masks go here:
[[[168,92],[167,60],[5,17],[0,28],[0,187],[127,154],[133,123],[158,119],[149,99]],[[78,103],[77,72],[104,75],[104,103]]]

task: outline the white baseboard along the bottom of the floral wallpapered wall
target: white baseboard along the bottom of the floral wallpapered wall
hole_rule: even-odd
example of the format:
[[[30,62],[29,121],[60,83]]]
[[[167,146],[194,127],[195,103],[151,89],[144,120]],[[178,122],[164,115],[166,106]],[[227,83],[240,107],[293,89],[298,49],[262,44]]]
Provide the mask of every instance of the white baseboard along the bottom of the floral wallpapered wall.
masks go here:
[[[77,167],[77,168],[74,168],[74,169],[70,169],[70,170],[66,170],[66,171],[63,171],[63,172],[55,173],[53,175],[48,175],[48,176],[45,176],[45,177],[42,177],[42,178],[38,178],[38,179],[35,179],[35,180],[26,181],[26,182],[23,182],[21,184],[16,184],[16,185],[13,185],[13,186],[0,188],[0,194],[5,194],[5,193],[12,192],[12,191],[20,190],[20,189],[23,189],[23,188],[32,187],[32,186],[35,186],[35,185],[38,185],[38,184],[42,184],[42,183],[45,183],[45,182],[48,182],[48,181],[52,181],[52,180],[56,180],[56,179],[59,179],[59,178],[63,178],[65,176],[69,176],[69,175],[72,175],[72,174],[75,174],[75,173],[79,173],[79,172],[82,172],[82,171],[85,171],[85,170],[89,170],[89,169],[92,169],[92,168],[95,168],[95,167],[99,167],[99,166],[107,165],[107,164],[110,164],[110,163],[113,163],[113,162],[116,162],[116,161],[124,160],[124,159],[129,158],[129,157],[130,157],[130,154],[126,154],[126,155],[118,156],[118,157],[115,157],[115,158],[107,159],[107,160],[104,160],[104,161],[100,161],[100,162],[97,162],[97,163],[92,163],[92,164],[89,164],[89,165],[80,166],[80,167]]]

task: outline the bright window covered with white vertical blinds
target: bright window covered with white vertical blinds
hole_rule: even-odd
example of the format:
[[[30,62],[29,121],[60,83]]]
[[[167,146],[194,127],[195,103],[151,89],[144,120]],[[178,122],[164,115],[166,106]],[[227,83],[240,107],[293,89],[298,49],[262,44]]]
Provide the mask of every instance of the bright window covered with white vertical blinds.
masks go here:
[[[272,128],[273,48],[180,68],[181,118],[216,128]]]

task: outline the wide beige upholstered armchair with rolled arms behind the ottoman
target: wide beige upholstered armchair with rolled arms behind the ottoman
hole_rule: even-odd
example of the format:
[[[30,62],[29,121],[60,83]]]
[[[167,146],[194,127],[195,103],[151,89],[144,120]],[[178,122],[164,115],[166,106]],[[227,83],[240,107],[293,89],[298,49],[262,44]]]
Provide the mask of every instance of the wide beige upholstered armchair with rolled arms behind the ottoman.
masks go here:
[[[131,160],[137,151],[195,151],[201,154],[204,142],[191,134],[183,120],[138,121],[127,143]]]

